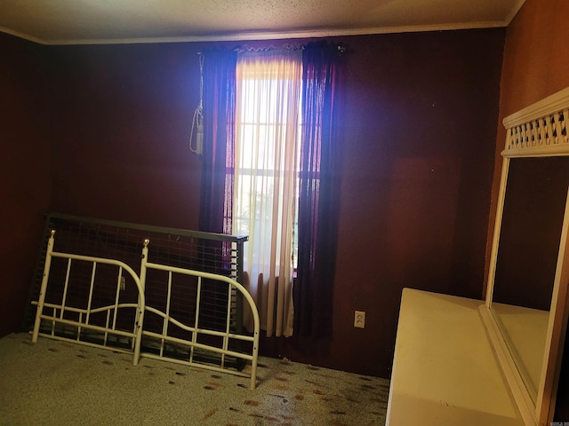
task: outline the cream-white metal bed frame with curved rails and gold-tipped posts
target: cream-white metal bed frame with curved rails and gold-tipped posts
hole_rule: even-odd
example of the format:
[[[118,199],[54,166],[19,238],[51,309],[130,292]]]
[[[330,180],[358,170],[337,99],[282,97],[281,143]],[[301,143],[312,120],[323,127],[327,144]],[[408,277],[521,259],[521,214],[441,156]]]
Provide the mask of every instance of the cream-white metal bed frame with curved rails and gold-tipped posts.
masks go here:
[[[259,332],[260,320],[257,307],[249,292],[236,280],[230,277],[211,273],[194,271],[185,268],[175,267],[165,264],[157,264],[148,262],[148,244],[149,240],[145,240],[142,248],[142,259],[140,262],[140,276],[132,270],[132,268],[121,261],[115,259],[101,258],[95,256],[81,256],[70,253],[61,253],[53,251],[55,231],[51,231],[47,245],[44,275],[38,296],[38,300],[33,302],[37,305],[36,318],[32,331],[32,342],[36,343],[38,336],[46,336],[57,340],[64,340],[73,343],[80,343],[87,346],[99,347],[112,351],[120,351],[133,354],[133,365],[138,365],[140,357],[161,359],[178,364],[188,365],[192,367],[201,367],[217,372],[229,373],[242,377],[250,377],[251,389],[255,388],[257,375],[257,359],[259,353]],[[67,266],[60,265],[60,276],[50,278],[52,271],[52,259],[67,259]],[[83,266],[84,273],[81,275],[73,273],[76,262],[82,264],[90,264],[90,268]],[[116,267],[117,273],[114,279],[115,284],[111,287],[114,295],[114,303],[99,304],[95,303],[97,293],[97,272],[101,264]],[[65,272],[63,272],[65,269]],[[89,269],[89,271],[86,271]],[[160,286],[165,282],[167,295],[164,304],[159,306],[150,306],[145,298],[145,288],[148,285],[148,272],[154,271],[152,275],[156,279],[156,272],[163,273],[167,276],[167,280],[158,280]],[[131,302],[122,300],[122,295],[126,293],[124,272],[132,278],[136,284],[136,294],[129,286],[129,294]],[[56,274],[57,275],[57,274]],[[109,275],[109,273],[107,273]],[[194,294],[195,302],[193,306],[188,308],[188,312],[193,314],[193,319],[188,321],[188,315],[185,315],[185,321],[175,318],[179,313],[171,312],[172,286],[174,280],[186,277],[195,281],[195,286],[188,293]],[[109,277],[107,276],[107,279]],[[63,281],[63,282],[60,282]],[[81,282],[78,282],[81,281]],[[89,281],[85,283],[84,281]],[[72,291],[74,285],[79,288],[85,288],[83,291],[88,293],[84,295],[81,302],[82,306],[71,305],[68,303],[68,293]],[[48,288],[48,286],[50,288]],[[156,287],[156,282],[153,283]],[[203,296],[207,288],[216,286],[215,296],[219,298],[220,286],[225,288],[224,294],[227,300],[224,301],[225,318],[220,319],[212,325],[208,318],[204,319],[204,315],[200,316],[202,305],[207,304],[207,297]],[[46,295],[49,293],[50,301],[46,301]],[[107,293],[110,290],[107,288]],[[107,296],[108,299],[108,296]],[[105,300],[107,300],[105,299]],[[73,298],[76,304],[76,298]],[[236,327],[234,306],[236,303],[246,301],[249,304],[253,318],[253,332],[248,334],[242,330],[242,327]],[[219,308],[217,308],[219,311]],[[121,310],[134,310],[135,314],[127,316],[131,322],[125,323],[124,320],[117,320],[118,312]],[[51,314],[49,313],[51,311]],[[220,312],[218,312],[219,315]],[[97,317],[97,314],[103,317]],[[148,314],[157,317],[159,320],[152,324],[145,323]],[[156,325],[156,323],[159,324]],[[185,323],[184,323],[185,322]],[[188,324],[189,322],[189,324]],[[45,331],[47,326],[48,331]],[[71,327],[72,332],[61,333],[61,327]],[[181,335],[180,335],[181,334]],[[96,335],[93,338],[93,335]],[[108,336],[113,335],[115,340],[109,341]],[[188,338],[185,338],[188,335]],[[118,339],[122,339],[122,346],[117,346]],[[143,341],[147,343],[142,344]],[[156,351],[151,351],[152,344],[149,342],[157,342]],[[244,343],[244,344],[241,344]],[[168,351],[166,346],[175,346],[177,349],[184,348],[182,351]],[[126,348],[124,347],[126,346]],[[243,349],[246,346],[247,350]],[[209,356],[205,356],[209,354]],[[212,359],[214,359],[212,361]],[[231,363],[227,359],[239,359],[244,363],[251,362],[251,372],[244,373],[240,369],[232,369]]]

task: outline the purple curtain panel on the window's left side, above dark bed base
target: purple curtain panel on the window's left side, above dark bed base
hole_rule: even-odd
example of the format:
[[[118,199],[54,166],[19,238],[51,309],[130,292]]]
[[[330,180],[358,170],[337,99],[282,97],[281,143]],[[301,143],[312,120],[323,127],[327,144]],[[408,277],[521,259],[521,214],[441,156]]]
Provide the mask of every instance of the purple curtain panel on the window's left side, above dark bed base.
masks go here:
[[[204,53],[204,157],[200,231],[231,233],[236,52]]]

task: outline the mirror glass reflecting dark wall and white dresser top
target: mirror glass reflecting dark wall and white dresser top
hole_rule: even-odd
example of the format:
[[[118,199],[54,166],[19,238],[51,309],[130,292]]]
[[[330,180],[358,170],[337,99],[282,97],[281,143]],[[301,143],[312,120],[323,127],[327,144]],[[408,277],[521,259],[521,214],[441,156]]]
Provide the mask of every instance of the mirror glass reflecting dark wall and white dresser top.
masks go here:
[[[513,158],[491,311],[535,404],[569,187],[569,157]]]

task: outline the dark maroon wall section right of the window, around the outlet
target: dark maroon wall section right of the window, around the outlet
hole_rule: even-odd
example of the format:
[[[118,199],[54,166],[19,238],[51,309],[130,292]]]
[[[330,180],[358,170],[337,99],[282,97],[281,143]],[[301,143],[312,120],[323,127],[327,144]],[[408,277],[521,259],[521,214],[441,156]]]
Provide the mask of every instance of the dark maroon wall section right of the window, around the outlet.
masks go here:
[[[265,351],[389,377],[402,288],[482,296],[503,36],[342,39],[333,338],[267,341]],[[355,310],[366,312],[363,330]]]

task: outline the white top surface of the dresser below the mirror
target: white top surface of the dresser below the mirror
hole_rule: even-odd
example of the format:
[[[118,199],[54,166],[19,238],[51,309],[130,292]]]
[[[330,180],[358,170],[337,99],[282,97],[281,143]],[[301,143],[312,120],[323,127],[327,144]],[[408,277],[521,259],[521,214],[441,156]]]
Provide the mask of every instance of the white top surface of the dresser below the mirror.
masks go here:
[[[405,288],[389,426],[523,426],[480,319],[479,300]]]

